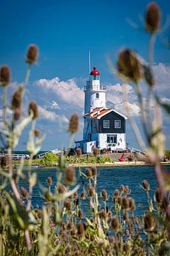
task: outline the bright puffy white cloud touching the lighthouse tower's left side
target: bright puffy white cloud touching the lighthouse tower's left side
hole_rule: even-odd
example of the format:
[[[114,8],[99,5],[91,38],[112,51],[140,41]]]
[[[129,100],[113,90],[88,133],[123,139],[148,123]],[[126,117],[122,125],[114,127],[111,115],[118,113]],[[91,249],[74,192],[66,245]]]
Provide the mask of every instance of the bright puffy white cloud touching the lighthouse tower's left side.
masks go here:
[[[67,81],[60,81],[60,78],[53,78],[51,80],[40,79],[37,85],[42,87],[45,92],[52,92],[57,95],[62,102],[74,107],[84,107],[84,92],[79,88],[74,79]]]

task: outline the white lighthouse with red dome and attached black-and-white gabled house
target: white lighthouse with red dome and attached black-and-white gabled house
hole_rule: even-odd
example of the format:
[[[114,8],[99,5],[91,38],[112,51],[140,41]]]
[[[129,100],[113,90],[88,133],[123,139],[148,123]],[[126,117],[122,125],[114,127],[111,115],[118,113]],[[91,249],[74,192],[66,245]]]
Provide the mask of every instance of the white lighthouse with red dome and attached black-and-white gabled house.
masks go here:
[[[75,142],[84,153],[92,153],[94,147],[109,151],[126,148],[125,117],[120,112],[106,107],[106,86],[101,85],[96,67],[91,71],[84,86],[84,131],[83,139]]]

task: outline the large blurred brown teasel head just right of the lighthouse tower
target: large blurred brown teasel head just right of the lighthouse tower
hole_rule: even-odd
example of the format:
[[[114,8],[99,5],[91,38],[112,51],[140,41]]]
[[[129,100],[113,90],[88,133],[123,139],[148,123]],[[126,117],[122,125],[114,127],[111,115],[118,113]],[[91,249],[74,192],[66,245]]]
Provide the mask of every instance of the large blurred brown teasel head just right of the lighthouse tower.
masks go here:
[[[142,62],[133,50],[121,50],[117,65],[118,73],[126,80],[137,82],[142,78]]]

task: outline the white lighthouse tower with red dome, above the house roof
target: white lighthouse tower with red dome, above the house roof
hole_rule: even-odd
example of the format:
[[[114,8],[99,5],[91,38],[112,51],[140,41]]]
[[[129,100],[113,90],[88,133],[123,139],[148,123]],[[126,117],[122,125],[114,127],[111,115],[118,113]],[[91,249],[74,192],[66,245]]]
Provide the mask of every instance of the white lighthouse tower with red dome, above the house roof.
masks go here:
[[[100,73],[94,67],[84,87],[85,101],[84,114],[91,112],[96,107],[106,107],[106,86],[100,84]]]

